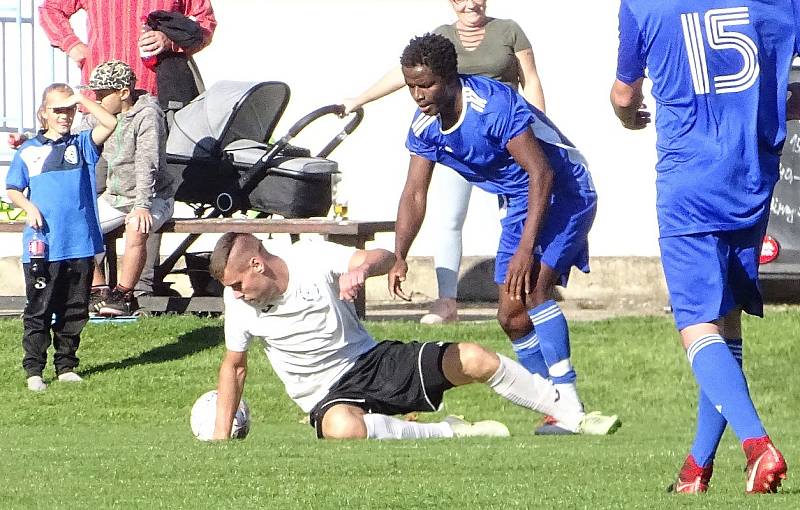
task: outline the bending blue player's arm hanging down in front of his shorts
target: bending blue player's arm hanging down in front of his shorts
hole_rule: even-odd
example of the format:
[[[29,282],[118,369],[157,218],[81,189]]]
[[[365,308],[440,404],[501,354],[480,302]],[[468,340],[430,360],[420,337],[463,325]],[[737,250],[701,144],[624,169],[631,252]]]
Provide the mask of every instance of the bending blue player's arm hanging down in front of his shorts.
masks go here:
[[[522,239],[511,257],[503,282],[511,299],[522,300],[525,295],[533,292],[536,283],[533,276],[533,248],[550,203],[553,169],[530,128],[512,138],[506,148],[514,161],[528,173],[528,216],[522,230]]]

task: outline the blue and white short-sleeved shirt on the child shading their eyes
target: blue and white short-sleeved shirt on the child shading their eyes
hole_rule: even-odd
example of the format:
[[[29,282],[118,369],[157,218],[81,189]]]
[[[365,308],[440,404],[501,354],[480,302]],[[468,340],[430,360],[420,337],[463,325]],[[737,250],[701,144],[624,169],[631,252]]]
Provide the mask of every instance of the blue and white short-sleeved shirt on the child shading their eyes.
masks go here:
[[[50,140],[38,135],[14,155],[6,188],[28,190],[28,200],[44,218],[43,233],[50,261],[93,257],[102,253],[103,234],[97,217],[95,166],[100,159],[91,130]],[[28,241],[22,234],[22,261],[29,262]]]

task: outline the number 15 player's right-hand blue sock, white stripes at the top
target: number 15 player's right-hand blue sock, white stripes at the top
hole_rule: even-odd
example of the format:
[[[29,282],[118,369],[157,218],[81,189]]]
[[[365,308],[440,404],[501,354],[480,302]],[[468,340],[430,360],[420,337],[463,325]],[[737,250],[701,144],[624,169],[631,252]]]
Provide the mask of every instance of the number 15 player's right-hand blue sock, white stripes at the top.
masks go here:
[[[719,335],[704,335],[686,350],[700,390],[731,424],[740,441],[766,435],[742,369]]]

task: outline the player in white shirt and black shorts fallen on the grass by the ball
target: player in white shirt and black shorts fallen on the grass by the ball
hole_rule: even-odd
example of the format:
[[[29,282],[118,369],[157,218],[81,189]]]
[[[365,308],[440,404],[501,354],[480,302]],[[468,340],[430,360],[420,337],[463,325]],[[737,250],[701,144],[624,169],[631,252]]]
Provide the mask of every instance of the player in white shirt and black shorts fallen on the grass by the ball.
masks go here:
[[[317,437],[422,439],[508,436],[495,421],[407,422],[390,415],[436,411],[444,392],[482,382],[511,402],[558,418],[573,431],[607,434],[616,416],[584,414],[559,401],[553,384],[477,344],[376,342],[353,299],[366,278],[395,263],[386,250],[302,241],[267,252],[250,234],[225,234],[211,255],[225,285],[225,345],[219,371],[215,439],[230,437],[244,389],[247,350],[261,337],[289,397],[310,413]]]

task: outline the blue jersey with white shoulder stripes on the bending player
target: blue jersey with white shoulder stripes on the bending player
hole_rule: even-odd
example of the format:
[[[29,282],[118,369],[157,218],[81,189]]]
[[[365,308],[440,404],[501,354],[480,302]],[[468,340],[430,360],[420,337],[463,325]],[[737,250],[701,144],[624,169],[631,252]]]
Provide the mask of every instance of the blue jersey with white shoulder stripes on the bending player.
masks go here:
[[[498,81],[468,75],[460,80],[458,121],[445,131],[439,116],[418,109],[406,139],[408,150],[452,168],[489,193],[527,197],[528,173],[506,146],[530,127],[553,167],[553,194],[594,191],[586,160],[544,113]]]

